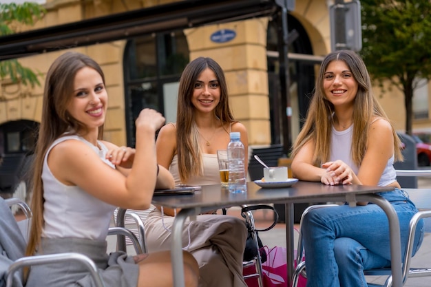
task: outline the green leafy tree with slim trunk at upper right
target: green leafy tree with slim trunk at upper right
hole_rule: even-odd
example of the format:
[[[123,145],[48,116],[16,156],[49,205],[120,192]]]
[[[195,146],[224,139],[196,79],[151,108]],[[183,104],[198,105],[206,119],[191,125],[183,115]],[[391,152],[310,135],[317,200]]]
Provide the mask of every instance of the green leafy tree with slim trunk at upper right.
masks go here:
[[[360,54],[374,80],[404,94],[406,133],[412,134],[412,98],[418,79],[431,78],[431,1],[361,0]]]

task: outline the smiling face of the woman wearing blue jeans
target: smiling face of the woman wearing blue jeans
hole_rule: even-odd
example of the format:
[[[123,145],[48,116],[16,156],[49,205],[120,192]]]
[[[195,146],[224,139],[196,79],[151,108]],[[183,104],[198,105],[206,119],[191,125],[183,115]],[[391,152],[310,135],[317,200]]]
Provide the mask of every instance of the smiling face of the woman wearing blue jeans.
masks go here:
[[[337,106],[353,104],[358,83],[346,62],[332,61],[326,67],[323,87],[326,99]]]

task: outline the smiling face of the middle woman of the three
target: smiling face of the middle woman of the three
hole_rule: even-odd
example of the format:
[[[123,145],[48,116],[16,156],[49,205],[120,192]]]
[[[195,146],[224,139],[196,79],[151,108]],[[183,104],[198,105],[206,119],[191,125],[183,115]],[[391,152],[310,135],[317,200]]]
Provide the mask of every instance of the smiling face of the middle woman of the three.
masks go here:
[[[213,111],[220,102],[220,83],[210,68],[202,71],[193,87],[191,103],[202,112]]]

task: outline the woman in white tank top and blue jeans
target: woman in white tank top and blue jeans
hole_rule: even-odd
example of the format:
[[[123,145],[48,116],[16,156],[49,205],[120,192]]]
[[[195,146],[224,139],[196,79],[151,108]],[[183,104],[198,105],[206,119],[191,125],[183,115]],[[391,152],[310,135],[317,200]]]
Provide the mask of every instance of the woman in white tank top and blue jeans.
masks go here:
[[[392,166],[402,159],[400,147],[372,95],[361,58],[350,50],[328,54],[317,76],[306,123],[293,146],[294,176],[330,185],[395,187],[379,195],[397,211],[401,246],[406,246],[409,222],[417,209],[401,190]],[[304,216],[307,287],[366,287],[364,270],[390,266],[386,214],[376,204],[358,205],[315,209]],[[413,250],[421,244],[422,226],[423,222],[418,224]]]

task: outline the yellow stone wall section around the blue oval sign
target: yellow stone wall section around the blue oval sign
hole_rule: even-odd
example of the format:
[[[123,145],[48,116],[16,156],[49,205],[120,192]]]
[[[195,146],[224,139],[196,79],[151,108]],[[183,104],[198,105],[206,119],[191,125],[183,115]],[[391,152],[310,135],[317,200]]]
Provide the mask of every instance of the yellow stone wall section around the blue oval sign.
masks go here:
[[[267,19],[251,19],[185,31],[190,60],[199,56],[217,61],[227,78],[233,116],[246,127],[249,145],[271,143],[266,63]],[[236,32],[233,40],[215,43],[210,35],[222,29]]]

